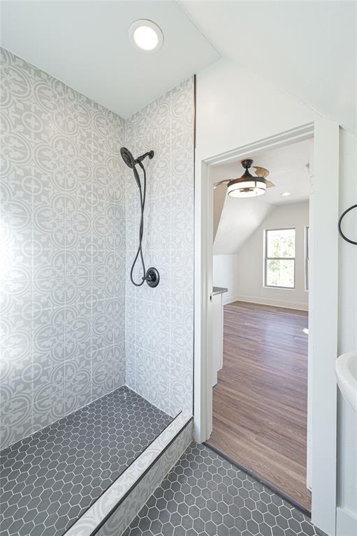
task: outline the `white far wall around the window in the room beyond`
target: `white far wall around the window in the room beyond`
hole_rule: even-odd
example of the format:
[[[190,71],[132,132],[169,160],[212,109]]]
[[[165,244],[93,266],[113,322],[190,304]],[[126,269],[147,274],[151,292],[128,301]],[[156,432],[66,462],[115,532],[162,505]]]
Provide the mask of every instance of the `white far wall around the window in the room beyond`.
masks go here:
[[[305,225],[309,224],[309,203],[282,204],[270,212],[238,252],[238,285],[235,299],[307,311],[309,293],[305,291]],[[295,288],[263,286],[264,229],[296,228]]]

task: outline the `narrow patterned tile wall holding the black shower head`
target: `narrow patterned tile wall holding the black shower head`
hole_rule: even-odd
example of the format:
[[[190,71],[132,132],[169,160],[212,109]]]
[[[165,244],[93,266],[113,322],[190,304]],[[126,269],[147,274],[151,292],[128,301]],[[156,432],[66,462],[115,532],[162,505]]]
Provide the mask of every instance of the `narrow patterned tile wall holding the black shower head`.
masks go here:
[[[138,188],[126,186],[126,383],[170,415],[192,410],[194,344],[194,80],[183,82],[126,124],[133,154],[154,149],[147,167],[143,251],[160,283],[129,281],[138,242]],[[136,280],[142,272],[138,263]]]

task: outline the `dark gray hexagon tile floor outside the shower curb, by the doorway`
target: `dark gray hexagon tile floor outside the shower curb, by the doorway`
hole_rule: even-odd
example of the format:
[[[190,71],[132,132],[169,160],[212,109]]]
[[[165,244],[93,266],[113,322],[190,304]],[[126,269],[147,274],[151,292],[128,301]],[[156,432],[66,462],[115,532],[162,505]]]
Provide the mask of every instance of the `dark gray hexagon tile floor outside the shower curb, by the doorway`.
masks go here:
[[[123,536],[322,536],[298,509],[192,443]]]

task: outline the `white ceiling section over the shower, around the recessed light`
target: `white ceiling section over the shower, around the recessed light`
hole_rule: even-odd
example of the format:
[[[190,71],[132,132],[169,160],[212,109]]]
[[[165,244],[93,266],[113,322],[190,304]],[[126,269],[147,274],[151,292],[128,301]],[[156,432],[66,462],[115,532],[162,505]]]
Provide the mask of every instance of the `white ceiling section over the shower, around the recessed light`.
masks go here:
[[[158,52],[140,52],[128,29],[150,19]],[[1,45],[122,117],[130,117],[218,59],[174,1],[1,1]]]

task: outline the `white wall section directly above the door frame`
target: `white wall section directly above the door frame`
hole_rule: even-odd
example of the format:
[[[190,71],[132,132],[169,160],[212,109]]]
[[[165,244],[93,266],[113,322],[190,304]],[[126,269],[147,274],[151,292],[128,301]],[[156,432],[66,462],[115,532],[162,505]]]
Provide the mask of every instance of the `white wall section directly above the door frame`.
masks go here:
[[[221,59],[197,75],[196,161],[314,121],[305,105]]]

